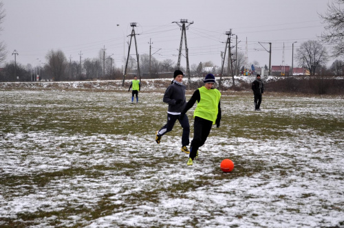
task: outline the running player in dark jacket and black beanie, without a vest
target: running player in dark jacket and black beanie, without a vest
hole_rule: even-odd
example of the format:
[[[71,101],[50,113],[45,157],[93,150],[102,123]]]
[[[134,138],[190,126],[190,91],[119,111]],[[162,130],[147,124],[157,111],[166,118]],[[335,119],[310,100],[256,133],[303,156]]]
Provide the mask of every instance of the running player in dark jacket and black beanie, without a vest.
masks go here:
[[[189,146],[190,135],[189,119],[187,117],[180,119],[180,112],[186,106],[186,87],[182,83],[183,72],[180,70],[176,70],[173,74],[173,78],[174,80],[172,81],[172,84],[167,87],[164,93],[164,98],[162,100],[163,102],[169,104],[169,109],[167,111],[167,123],[155,133],[155,141],[157,142],[157,144],[160,144],[162,135],[169,133],[173,129],[173,126],[178,119],[180,125],[183,128],[181,150],[183,152],[186,152],[186,154],[189,154],[190,151],[187,148],[187,146]]]

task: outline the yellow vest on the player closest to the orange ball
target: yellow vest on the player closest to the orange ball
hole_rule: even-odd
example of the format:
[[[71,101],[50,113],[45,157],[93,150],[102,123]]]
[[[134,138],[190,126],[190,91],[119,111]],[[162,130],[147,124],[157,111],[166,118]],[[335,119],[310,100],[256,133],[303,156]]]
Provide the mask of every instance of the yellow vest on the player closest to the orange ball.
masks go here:
[[[201,87],[198,90],[201,100],[197,103],[193,117],[208,119],[215,124],[217,113],[219,113],[218,106],[221,93],[217,89],[206,89],[206,87]]]

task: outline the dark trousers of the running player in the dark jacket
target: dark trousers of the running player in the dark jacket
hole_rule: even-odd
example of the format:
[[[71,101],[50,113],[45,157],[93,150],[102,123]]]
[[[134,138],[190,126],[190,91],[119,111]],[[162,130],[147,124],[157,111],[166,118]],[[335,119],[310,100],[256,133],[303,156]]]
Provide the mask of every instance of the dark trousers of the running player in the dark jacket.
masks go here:
[[[180,122],[180,125],[183,128],[183,134],[182,134],[182,146],[189,146],[189,135],[190,135],[190,125],[189,125],[189,118],[187,115],[184,115],[184,118],[180,120],[180,115],[171,115],[167,113],[167,123],[165,126],[163,126],[159,131],[158,135],[162,136],[166,133],[169,133],[175,124],[175,122],[178,121]]]

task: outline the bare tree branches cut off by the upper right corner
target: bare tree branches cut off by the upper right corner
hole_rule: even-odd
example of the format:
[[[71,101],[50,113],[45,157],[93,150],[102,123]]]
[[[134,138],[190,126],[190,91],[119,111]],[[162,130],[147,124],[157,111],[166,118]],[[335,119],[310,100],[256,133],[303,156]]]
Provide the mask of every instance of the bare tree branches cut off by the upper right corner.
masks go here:
[[[344,56],[344,0],[334,0],[327,3],[327,12],[320,14],[325,25],[321,38],[326,43],[334,44],[333,56]]]

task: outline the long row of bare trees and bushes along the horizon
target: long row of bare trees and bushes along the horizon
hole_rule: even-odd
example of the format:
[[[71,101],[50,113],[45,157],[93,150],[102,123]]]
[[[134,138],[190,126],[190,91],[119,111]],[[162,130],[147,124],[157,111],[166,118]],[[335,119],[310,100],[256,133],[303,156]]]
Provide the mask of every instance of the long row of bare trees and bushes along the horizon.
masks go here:
[[[240,72],[244,67],[244,54],[239,52],[237,59],[233,66],[235,74]],[[65,54],[61,50],[50,50],[45,56],[45,65],[32,67],[32,65],[23,66],[17,62],[17,66],[14,65],[14,61],[9,62],[0,72],[0,81],[35,81],[35,80],[114,80],[122,79],[123,69],[116,67],[111,56],[104,58],[86,58],[81,62],[67,60]],[[309,69],[310,74],[327,74],[327,75],[343,75],[344,74],[344,62],[343,60],[335,60],[331,67],[326,67],[327,59],[329,55],[323,45],[319,41],[306,41],[301,44],[297,49],[297,60],[300,67]],[[255,65],[259,63],[255,62]],[[16,67],[16,68],[15,68]],[[219,74],[221,67],[215,66],[213,62],[200,62],[198,65],[193,64],[190,67],[191,76],[204,75],[206,71],[204,69],[210,69],[212,73]],[[267,66],[265,66],[267,69]],[[15,69],[14,69],[15,68]],[[171,59],[165,59],[161,62],[155,58],[149,60],[148,54],[142,54],[140,56],[140,69],[144,78],[164,74],[167,75],[173,72],[177,68],[176,63]],[[129,56],[128,74],[137,73],[136,58]],[[224,68],[224,74],[226,74],[227,67]],[[183,69],[182,69],[183,70]],[[16,73],[14,73],[16,71]],[[14,77],[14,75],[17,77]],[[37,78],[37,75],[39,78]]]

